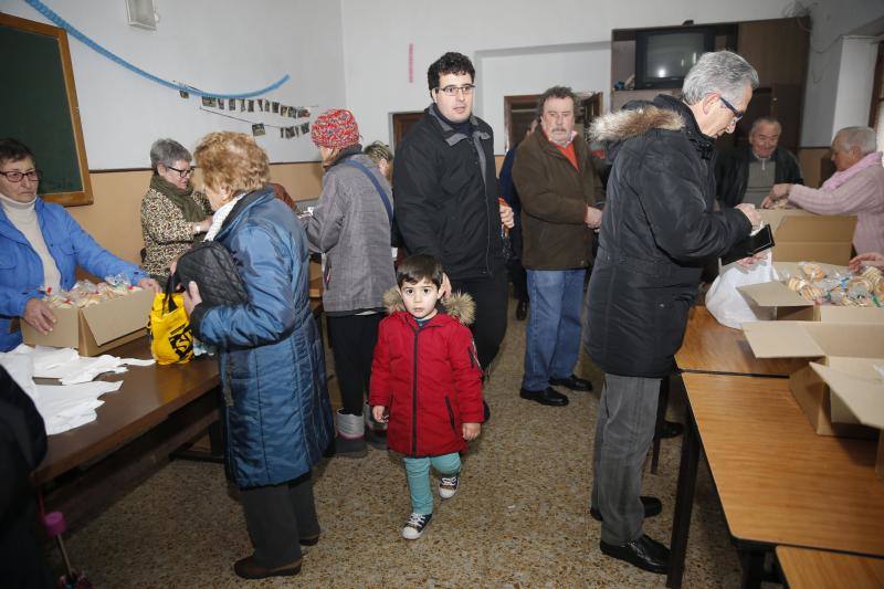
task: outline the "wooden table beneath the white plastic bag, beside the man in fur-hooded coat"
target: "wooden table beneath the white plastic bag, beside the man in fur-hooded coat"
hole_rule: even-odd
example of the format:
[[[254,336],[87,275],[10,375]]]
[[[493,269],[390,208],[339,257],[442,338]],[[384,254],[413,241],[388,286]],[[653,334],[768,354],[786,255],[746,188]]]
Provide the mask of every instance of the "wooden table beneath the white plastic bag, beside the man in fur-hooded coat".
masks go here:
[[[675,362],[685,372],[788,377],[807,360],[758,359],[741,329],[725,327],[706,307],[693,307]]]

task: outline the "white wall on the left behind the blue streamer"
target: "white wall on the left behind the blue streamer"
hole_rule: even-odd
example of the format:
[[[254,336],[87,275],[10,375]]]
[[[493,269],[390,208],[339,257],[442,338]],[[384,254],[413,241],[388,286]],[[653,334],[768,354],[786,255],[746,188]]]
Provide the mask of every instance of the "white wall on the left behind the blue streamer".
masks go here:
[[[287,73],[292,80],[266,98],[294,106],[344,105],[337,1],[155,0],[161,17],[156,31],[129,27],[124,0],[44,3],[109,51],[159,77],[239,93],[265,87]],[[21,0],[0,0],[0,11],[48,22]],[[198,98],[185,101],[73,38],[69,42],[91,169],[148,167],[150,144],[158,137],[172,137],[192,149],[211,130],[251,133],[250,124],[203,113]],[[11,87],[7,81],[3,92]],[[231,114],[255,123],[291,125],[296,120],[262,113]],[[309,137],[281,139],[278,129],[269,128],[257,140],[271,161],[318,159]]]

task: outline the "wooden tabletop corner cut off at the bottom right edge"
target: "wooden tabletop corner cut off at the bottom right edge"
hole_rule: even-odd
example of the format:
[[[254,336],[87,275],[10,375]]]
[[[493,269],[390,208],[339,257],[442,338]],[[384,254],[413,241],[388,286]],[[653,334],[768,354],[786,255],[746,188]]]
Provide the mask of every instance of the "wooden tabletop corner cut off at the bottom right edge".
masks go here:
[[[777,546],[777,559],[790,589],[880,589],[884,559]]]

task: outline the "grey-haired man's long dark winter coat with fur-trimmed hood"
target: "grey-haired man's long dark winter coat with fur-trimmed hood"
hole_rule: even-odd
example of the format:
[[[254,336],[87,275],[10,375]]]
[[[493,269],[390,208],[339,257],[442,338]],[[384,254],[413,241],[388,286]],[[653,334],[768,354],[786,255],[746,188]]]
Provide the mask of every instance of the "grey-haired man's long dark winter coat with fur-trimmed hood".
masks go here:
[[[671,96],[632,103],[592,125],[613,161],[583,346],[606,372],[660,378],[675,367],[704,263],[751,231],[713,211],[712,138]]]

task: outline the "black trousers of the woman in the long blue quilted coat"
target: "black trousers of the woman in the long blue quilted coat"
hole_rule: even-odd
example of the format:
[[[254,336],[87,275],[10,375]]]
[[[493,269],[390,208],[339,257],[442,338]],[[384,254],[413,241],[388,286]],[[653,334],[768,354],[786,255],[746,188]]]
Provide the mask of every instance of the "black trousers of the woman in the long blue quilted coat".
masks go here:
[[[311,473],[278,485],[242,488],[240,497],[255,560],[264,567],[297,560],[298,540],[319,535]]]

